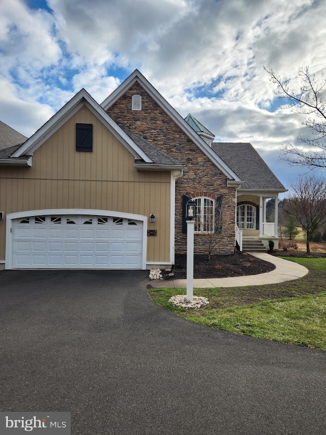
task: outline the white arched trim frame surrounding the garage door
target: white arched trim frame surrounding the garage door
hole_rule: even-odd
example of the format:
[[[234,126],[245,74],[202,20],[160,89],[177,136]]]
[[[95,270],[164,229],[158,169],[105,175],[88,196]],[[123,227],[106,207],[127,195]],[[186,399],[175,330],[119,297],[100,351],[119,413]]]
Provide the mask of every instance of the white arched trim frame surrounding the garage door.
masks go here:
[[[136,215],[132,213],[121,213],[111,210],[92,210],[92,209],[49,209],[49,210],[30,210],[25,212],[11,213],[7,215],[6,227],[6,269],[13,268],[13,222],[15,219],[24,219],[35,216],[101,216],[101,217],[115,217],[121,219],[130,219],[134,221],[141,221],[143,223],[143,237],[142,237],[142,269],[146,269],[146,250],[147,250],[147,217],[143,215]]]

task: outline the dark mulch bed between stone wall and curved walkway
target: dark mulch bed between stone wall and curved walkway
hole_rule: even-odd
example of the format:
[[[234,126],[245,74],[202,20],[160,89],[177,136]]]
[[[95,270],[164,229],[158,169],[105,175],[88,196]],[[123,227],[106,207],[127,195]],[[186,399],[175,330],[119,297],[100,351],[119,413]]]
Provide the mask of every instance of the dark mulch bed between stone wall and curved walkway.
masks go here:
[[[172,270],[162,270],[164,279],[186,278],[186,255],[176,254],[175,266]],[[194,255],[194,278],[226,278],[230,276],[257,275],[270,272],[275,265],[260,260],[248,253],[231,255],[212,255],[211,260],[207,255]]]

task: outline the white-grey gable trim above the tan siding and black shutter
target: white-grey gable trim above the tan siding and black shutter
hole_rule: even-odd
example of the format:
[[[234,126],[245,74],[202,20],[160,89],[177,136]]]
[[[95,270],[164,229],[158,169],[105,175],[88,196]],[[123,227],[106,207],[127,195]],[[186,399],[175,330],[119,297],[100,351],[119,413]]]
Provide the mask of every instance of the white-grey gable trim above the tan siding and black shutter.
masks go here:
[[[152,160],[146,153],[135,144],[129,136],[124,133],[121,127],[103,110],[103,108],[96,103],[91,95],[83,88],[76,95],[74,95],[68,103],[65,104],[55,115],[53,115],[44,125],[24,142],[11,157],[19,157],[26,152],[35,151],[47,140],[53,133],[55,133],[62,121],[66,122],[80,107],[86,105],[92,113],[97,116],[100,121],[126,146],[132,155],[137,159],[142,159],[146,163],[151,163]]]

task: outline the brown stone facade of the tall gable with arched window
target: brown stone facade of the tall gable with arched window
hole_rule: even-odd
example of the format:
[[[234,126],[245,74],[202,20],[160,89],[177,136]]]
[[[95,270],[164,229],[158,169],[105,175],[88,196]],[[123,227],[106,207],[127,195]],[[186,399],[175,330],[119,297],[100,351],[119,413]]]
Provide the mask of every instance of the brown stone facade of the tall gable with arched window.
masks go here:
[[[134,94],[142,96],[140,111],[131,110],[131,97]],[[186,252],[186,235],[182,233],[182,197],[196,197],[198,192],[205,192],[205,196],[213,198],[223,195],[223,231],[218,247],[213,253],[232,253],[235,238],[236,191],[234,187],[227,186],[227,178],[222,171],[188,138],[138,82],[133,84],[107,113],[118,124],[126,125],[131,131],[185,165],[183,176],[176,182],[175,252]],[[195,253],[205,253],[206,243],[205,237],[196,234]]]

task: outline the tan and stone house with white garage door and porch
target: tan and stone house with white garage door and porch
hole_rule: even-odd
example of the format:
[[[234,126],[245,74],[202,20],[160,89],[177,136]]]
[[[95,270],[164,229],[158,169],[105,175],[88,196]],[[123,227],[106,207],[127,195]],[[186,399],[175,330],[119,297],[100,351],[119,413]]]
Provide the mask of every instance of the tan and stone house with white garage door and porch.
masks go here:
[[[101,105],[80,90],[33,136],[0,124],[0,263],[12,268],[147,269],[241,236],[277,245],[266,199],[286,189],[251,144],[213,142],[135,70]],[[221,224],[215,225],[219,214]],[[151,217],[151,219],[150,219]]]

